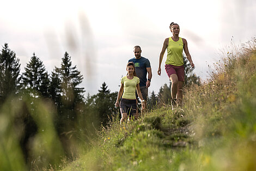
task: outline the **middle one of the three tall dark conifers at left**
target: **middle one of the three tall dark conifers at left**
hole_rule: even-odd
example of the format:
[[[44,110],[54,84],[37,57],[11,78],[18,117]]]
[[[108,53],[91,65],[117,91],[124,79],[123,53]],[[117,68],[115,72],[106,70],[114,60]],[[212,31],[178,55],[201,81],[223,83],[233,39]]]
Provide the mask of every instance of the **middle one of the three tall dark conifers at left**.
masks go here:
[[[35,56],[31,57],[22,74],[22,88],[26,89],[33,97],[38,95],[49,96],[49,79],[48,74],[42,61]]]

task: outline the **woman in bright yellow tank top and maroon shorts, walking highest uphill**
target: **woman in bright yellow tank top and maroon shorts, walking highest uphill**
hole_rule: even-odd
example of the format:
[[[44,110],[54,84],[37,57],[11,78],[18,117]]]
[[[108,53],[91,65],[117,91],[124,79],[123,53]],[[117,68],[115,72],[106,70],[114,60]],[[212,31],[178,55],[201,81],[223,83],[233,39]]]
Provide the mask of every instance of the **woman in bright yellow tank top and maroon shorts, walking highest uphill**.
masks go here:
[[[187,41],[184,38],[179,37],[180,27],[178,24],[172,22],[170,23],[170,32],[172,32],[173,36],[167,38],[163,42],[162,51],[159,57],[159,69],[157,70],[157,74],[161,75],[161,63],[163,60],[164,52],[167,49],[167,59],[165,69],[167,75],[172,82],[172,87],[170,88],[171,96],[172,96],[172,106],[181,105],[182,104],[182,87],[184,84],[184,61],[182,52],[184,50],[188,61],[192,68],[194,68],[194,64],[192,62],[192,58],[190,56],[190,52],[188,52]]]

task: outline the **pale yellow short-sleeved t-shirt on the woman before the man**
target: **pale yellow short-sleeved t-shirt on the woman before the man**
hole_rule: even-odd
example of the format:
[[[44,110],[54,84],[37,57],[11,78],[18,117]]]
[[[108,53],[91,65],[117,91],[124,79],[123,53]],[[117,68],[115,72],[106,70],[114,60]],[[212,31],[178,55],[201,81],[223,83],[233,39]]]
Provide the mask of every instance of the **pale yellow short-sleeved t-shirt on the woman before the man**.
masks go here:
[[[136,99],[136,86],[139,83],[139,78],[133,76],[132,80],[129,80],[127,76],[121,79],[121,83],[124,84],[124,93],[122,98],[124,99]]]

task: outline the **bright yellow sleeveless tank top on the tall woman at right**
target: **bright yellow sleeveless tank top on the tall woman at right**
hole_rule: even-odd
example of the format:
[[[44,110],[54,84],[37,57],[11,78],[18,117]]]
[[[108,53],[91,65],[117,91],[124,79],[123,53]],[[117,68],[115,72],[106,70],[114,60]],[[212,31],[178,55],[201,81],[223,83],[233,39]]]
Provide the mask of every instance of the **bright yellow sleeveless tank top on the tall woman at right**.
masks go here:
[[[169,43],[167,46],[166,64],[170,64],[174,66],[184,65],[182,52],[183,52],[182,38],[179,38],[178,41],[173,41],[172,38],[169,38]]]

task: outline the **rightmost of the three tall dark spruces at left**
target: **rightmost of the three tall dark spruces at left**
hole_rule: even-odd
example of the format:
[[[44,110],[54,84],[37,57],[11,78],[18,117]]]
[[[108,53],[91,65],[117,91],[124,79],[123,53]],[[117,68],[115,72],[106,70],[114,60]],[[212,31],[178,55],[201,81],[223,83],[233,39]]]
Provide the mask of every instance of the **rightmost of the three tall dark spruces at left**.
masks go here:
[[[61,105],[58,111],[60,119],[58,129],[63,131],[69,129],[69,127],[74,127],[77,114],[80,112],[79,106],[84,100],[84,88],[79,88],[78,86],[82,83],[83,76],[76,66],[72,66],[71,57],[67,52],[62,58],[60,68],[56,67],[54,72],[60,79]],[[57,76],[52,77],[56,79],[56,82],[58,82]]]

